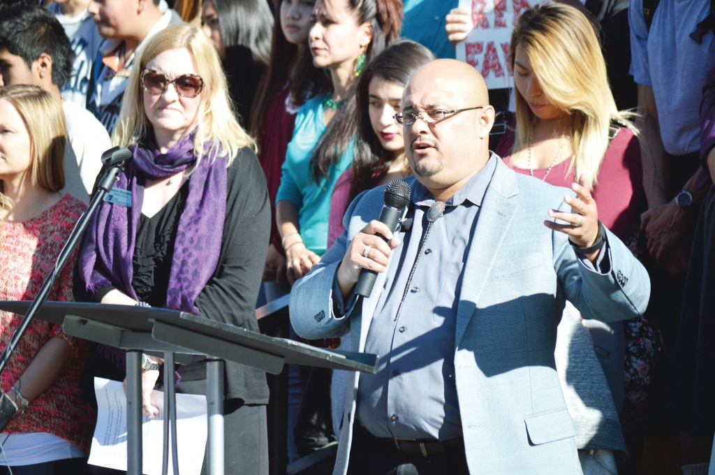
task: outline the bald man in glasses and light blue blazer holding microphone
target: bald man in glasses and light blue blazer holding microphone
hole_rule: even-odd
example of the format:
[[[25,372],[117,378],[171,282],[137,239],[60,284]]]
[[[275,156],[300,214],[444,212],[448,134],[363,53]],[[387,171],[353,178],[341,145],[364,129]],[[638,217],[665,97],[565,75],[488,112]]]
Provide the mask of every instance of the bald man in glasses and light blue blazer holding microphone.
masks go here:
[[[412,227],[375,220],[385,187],[359,195],[290,298],[298,335],[380,356],[374,375],[333,377],[333,473],[581,474],[556,326],[566,300],[583,318],[640,315],[648,274],[589,190],[517,175],[488,150],[494,109],[472,67],[425,65],[402,111]],[[378,272],[369,298],[353,293],[363,269]]]

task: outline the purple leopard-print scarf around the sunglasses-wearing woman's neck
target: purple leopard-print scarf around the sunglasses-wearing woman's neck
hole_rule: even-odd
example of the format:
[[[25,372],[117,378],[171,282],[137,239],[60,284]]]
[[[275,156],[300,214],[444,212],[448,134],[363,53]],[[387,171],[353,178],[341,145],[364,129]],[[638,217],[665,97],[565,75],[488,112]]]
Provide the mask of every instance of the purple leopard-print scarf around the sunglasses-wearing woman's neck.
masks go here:
[[[182,138],[165,154],[153,137],[131,145],[131,162],[119,172],[115,188],[132,192],[132,207],[102,202],[87,228],[79,255],[79,272],[87,290],[96,292],[114,285],[137,299],[132,288],[134,245],[144,202],[139,175],[152,179],[169,177],[192,166],[196,130]],[[189,180],[189,195],[179,217],[174,257],[169,274],[164,308],[201,315],[194,300],[216,269],[221,251],[227,197],[227,159],[206,154]]]

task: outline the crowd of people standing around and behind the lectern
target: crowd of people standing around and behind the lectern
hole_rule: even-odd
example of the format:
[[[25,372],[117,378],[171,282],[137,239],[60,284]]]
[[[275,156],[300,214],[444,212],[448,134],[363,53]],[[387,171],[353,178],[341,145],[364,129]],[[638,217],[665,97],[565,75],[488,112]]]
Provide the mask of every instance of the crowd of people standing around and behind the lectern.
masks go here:
[[[291,338],[380,357],[288,368],[290,461],[337,442],[340,475],[708,474],[712,3],[521,3],[513,88],[488,89],[455,59],[478,25],[456,0],[1,0],[0,300],[34,298],[128,147],[127,199],[49,300],[259,331],[290,293]],[[20,321],[0,312],[0,346]],[[31,323],[0,474],[116,473],[87,459],[94,378],[125,362]],[[150,418],[163,364],[142,359]],[[203,358],[172,369],[206,393]],[[268,474],[265,373],[224,379],[226,473]]]

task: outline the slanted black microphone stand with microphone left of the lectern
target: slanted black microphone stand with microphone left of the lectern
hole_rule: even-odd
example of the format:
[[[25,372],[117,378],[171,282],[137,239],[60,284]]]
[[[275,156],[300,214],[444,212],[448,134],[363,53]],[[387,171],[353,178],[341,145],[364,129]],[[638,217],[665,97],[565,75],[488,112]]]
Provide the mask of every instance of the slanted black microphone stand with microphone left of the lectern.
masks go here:
[[[117,181],[117,174],[119,173],[119,170],[122,170],[124,162],[131,157],[132,152],[129,152],[129,149],[120,149],[119,147],[109,149],[107,150],[107,152],[104,152],[102,154],[102,163],[104,163],[104,165],[108,168],[104,172],[102,180],[99,181],[99,185],[97,185],[97,192],[94,193],[94,197],[92,197],[92,200],[89,202],[89,207],[87,207],[87,210],[82,213],[82,216],[79,217],[77,224],[74,225],[74,230],[72,230],[71,234],[69,235],[69,239],[67,240],[67,243],[60,251],[54,268],[52,268],[51,272],[45,279],[44,283],[42,284],[42,287],[40,288],[29,309],[27,310],[27,313],[22,319],[19,327],[17,328],[17,330],[15,330],[15,333],[13,334],[12,338],[10,338],[10,343],[8,344],[7,348],[5,348],[4,353],[0,357],[0,373],[4,371],[7,366],[7,363],[9,363],[10,361],[10,358],[12,358],[12,355],[15,352],[17,346],[19,345],[20,340],[27,331],[27,328],[29,328],[30,323],[32,323],[35,314],[42,307],[42,305],[44,305],[45,300],[47,300],[47,296],[49,295],[52,285],[54,285],[54,281],[56,280],[57,276],[67,262],[67,259],[69,259],[69,256],[74,251],[75,246],[82,238],[84,230],[86,230],[87,225],[89,225],[89,220],[92,219],[94,213],[97,212],[97,208],[99,208],[99,205],[102,204],[102,200],[104,200],[104,195],[107,195],[107,192],[109,192],[109,190],[112,190],[114,182]],[[2,396],[0,396],[0,431],[3,431],[17,413],[17,404],[15,401],[11,400],[11,398],[9,398],[6,393],[1,394]]]

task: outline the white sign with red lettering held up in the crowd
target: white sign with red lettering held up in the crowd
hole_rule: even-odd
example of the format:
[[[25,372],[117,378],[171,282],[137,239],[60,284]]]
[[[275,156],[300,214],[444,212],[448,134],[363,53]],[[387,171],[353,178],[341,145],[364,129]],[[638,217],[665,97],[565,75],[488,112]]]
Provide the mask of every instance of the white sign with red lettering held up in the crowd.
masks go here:
[[[477,69],[488,89],[513,87],[508,61],[511,31],[521,16],[543,0],[459,0],[459,7],[472,11],[473,30],[457,44],[457,59]]]

